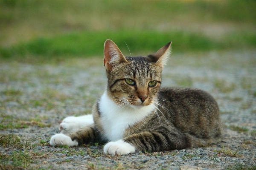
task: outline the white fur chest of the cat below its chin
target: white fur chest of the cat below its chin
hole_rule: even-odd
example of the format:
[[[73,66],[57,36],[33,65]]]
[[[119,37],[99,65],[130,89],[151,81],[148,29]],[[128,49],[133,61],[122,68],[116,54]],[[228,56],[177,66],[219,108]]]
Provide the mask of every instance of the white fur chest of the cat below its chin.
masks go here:
[[[117,105],[104,93],[99,101],[103,135],[109,141],[122,139],[126,128],[142,121],[153,109],[153,104],[138,109],[132,108],[129,104]]]

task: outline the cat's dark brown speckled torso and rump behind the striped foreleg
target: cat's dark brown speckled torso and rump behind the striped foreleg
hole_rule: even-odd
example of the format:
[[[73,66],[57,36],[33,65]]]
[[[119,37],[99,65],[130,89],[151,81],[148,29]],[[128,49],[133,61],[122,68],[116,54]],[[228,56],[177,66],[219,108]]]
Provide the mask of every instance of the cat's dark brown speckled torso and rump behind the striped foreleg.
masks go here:
[[[219,108],[206,91],[196,88],[162,88],[159,107],[177,128],[200,138],[221,136]]]

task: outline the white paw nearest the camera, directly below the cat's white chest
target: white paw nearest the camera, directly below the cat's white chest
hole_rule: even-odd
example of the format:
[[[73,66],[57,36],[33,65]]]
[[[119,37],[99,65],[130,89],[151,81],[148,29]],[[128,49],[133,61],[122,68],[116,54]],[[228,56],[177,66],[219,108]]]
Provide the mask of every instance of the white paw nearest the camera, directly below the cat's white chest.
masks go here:
[[[135,153],[135,147],[123,140],[118,140],[116,142],[108,142],[104,147],[104,152],[111,155],[125,155]]]

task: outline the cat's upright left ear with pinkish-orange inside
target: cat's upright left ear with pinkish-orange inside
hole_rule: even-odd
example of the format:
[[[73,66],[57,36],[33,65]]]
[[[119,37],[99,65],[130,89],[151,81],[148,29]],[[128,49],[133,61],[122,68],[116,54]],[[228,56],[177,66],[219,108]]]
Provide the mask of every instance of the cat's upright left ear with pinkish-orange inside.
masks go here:
[[[111,71],[115,65],[122,62],[128,62],[125,56],[121,53],[115,42],[106,40],[104,44],[104,66],[108,71]]]

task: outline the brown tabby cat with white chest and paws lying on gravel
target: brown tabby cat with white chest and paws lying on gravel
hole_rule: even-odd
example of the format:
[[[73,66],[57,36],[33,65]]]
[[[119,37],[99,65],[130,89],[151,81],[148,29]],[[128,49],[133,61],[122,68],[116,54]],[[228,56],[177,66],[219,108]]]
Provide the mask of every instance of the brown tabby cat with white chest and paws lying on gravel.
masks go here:
[[[218,142],[219,108],[210,94],[195,88],[160,88],[171,43],[145,57],[125,57],[113,41],[106,40],[104,94],[91,115],[65,118],[61,133],[52,136],[50,144],[101,141],[107,143],[105,153],[125,155]]]

